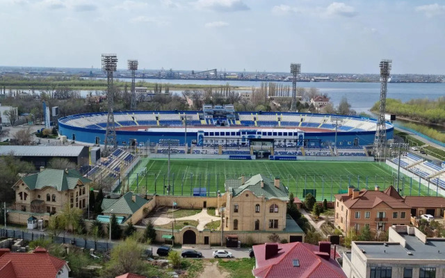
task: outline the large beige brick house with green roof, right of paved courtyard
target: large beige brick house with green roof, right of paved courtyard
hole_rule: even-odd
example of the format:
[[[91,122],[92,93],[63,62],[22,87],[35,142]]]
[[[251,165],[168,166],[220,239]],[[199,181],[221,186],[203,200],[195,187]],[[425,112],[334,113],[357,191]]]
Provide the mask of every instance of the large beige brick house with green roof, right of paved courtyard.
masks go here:
[[[279,177],[262,174],[225,181],[225,230],[280,231],[286,228],[289,190]],[[224,206],[224,205],[223,205]]]

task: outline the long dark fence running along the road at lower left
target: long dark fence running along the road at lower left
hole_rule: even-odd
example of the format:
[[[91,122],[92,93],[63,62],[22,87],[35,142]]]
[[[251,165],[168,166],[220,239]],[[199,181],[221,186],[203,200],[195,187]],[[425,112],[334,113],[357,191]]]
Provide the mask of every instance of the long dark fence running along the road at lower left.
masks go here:
[[[97,241],[95,243],[94,240],[90,240],[88,238],[79,238],[79,237],[68,237],[68,236],[49,236],[47,234],[43,234],[41,231],[24,231],[19,229],[0,229],[0,237],[1,238],[22,238],[27,241],[33,241],[37,239],[49,239],[53,243],[69,243],[72,245],[76,245],[77,247],[83,247],[85,249],[95,249],[97,251],[105,252],[113,248],[113,243],[108,243],[108,241]]]

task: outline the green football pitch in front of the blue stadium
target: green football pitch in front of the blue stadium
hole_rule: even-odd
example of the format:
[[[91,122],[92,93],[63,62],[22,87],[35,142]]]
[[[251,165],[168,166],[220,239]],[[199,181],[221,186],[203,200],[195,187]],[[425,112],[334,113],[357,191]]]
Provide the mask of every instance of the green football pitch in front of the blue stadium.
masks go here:
[[[170,161],[170,192],[168,192],[168,161],[144,159],[126,183],[136,193],[159,195],[193,195],[193,188],[203,188],[201,194],[216,196],[224,192],[226,178],[241,174],[263,174],[280,177],[284,186],[296,197],[313,191],[316,199],[328,201],[335,194],[345,193],[348,186],[380,190],[397,186],[397,172],[382,163],[325,161],[221,161],[180,159]],[[401,174],[398,181],[402,195],[436,195],[435,186],[427,188],[416,179]],[[204,189],[205,188],[205,189]]]

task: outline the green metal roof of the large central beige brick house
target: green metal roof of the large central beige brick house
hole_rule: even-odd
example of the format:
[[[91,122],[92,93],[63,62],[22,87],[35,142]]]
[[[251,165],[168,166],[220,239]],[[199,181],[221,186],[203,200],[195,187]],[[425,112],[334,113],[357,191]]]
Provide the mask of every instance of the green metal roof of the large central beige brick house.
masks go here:
[[[262,188],[261,181],[264,182]],[[266,199],[280,199],[284,202],[289,201],[289,190],[287,190],[284,184],[280,181],[280,188],[277,188],[274,185],[273,179],[262,174],[254,175],[243,184],[241,184],[241,179],[227,179],[225,186],[234,197],[243,193],[244,190],[250,190],[257,197],[264,195]]]

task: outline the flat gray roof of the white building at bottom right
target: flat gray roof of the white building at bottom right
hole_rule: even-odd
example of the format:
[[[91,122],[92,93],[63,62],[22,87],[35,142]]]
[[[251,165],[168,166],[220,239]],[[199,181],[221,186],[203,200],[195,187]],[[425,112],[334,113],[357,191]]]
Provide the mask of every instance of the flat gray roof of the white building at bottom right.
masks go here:
[[[359,249],[364,250],[368,259],[401,259],[401,260],[440,260],[445,261],[445,238],[428,238],[423,243],[414,235],[398,233],[406,240],[406,247],[400,243],[355,243]],[[437,252],[440,250],[440,253]],[[411,252],[412,255],[409,255]]]

